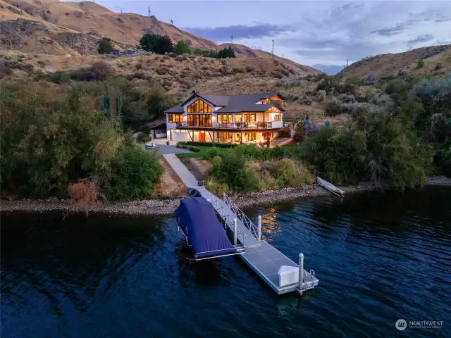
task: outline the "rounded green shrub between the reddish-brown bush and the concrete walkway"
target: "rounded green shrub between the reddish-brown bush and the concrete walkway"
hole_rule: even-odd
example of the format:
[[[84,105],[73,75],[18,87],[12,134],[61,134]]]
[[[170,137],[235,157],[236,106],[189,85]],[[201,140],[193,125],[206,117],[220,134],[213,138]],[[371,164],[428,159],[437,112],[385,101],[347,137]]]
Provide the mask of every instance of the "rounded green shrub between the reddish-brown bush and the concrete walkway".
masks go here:
[[[111,162],[108,196],[111,199],[152,199],[154,185],[163,175],[156,154],[130,145],[120,151]]]

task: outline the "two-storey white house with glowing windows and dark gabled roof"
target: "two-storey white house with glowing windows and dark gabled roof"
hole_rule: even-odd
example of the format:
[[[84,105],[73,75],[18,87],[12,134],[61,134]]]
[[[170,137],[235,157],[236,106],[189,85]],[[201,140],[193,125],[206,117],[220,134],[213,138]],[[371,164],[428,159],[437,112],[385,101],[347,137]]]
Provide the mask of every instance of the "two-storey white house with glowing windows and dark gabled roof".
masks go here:
[[[283,127],[284,99],[278,93],[211,95],[192,92],[165,111],[171,141],[259,143]]]

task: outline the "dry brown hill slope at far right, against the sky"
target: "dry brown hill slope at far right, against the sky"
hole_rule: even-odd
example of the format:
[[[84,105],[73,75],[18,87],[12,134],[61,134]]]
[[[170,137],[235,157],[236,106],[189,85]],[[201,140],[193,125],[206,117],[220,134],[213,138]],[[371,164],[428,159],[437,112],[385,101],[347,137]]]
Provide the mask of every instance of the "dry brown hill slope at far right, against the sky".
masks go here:
[[[418,67],[419,60],[424,61]],[[401,74],[440,75],[451,72],[451,45],[430,46],[397,54],[383,54],[357,61],[339,74],[345,76],[388,77]]]

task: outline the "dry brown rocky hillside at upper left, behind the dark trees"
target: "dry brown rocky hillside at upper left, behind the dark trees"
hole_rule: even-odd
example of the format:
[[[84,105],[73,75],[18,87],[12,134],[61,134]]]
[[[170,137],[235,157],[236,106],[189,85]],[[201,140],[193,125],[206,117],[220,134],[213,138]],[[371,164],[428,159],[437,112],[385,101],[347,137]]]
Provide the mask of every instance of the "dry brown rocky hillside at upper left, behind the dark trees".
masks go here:
[[[96,42],[99,37],[109,37],[116,48],[125,49],[139,43],[144,29],[154,34],[168,35],[173,42],[189,40],[191,46],[197,49],[223,48],[223,45],[218,46],[156,18],[116,13],[90,1],[0,0],[0,49],[65,56],[97,54]],[[239,44],[232,46],[237,58],[261,58],[266,59],[261,63],[273,62],[269,61],[271,54],[265,51],[254,51]],[[291,69],[293,74],[304,76],[319,73],[314,68],[286,58],[274,58]]]

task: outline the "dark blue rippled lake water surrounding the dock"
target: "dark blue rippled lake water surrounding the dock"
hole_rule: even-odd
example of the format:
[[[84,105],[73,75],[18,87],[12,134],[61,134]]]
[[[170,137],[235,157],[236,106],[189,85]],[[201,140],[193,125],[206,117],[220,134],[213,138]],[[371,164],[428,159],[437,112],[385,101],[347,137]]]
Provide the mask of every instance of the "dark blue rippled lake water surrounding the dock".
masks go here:
[[[450,189],[247,213],[317,289],[276,296],[234,257],[190,264],[173,218],[3,215],[1,337],[450,337]]]

